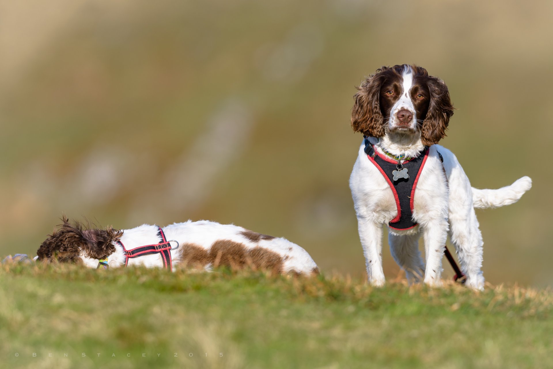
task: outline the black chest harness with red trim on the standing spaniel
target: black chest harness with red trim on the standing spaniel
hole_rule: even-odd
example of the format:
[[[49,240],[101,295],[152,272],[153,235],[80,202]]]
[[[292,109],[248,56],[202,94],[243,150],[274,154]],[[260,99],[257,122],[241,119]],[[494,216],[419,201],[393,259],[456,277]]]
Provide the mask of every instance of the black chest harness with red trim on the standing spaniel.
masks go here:
[[[390,220],[388,226],[394,230],[408,230],[416,226],[413,221],[413,198],[420,173],[428,158],[429,147],[426,146],[418,157],[404,160],[400,164],[397,160],[378,153],[369,139],[365,138],[365,153],[371,163],[382,173],[394,194],[398,215]],[[405,174],[409,174],[407,178]]]

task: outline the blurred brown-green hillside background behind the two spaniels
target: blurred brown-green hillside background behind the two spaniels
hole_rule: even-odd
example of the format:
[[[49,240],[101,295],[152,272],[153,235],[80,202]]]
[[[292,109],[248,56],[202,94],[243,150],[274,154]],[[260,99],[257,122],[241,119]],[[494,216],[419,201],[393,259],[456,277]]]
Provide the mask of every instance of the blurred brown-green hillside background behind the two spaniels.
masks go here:
[[[553,285],[552,15],[515,0],[1,0],[0,256],[35,254],[61,214],[208,219],[362,274],[354,86],[414,63],[450,89],[441,144],[473,186],[534,180],[517,204],[477,210],[484,276]]]

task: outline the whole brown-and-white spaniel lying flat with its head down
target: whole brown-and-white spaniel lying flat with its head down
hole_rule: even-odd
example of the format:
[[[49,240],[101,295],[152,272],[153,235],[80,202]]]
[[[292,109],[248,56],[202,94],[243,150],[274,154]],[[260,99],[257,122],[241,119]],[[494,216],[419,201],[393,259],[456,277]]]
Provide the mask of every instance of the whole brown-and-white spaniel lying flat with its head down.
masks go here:
[[[82,262],[87,267],[175,265],[251,267],[272,273],[318,273],[303,248],[284,238],[262,235],[234,225],[187,221],[166,227],[142,225],[130,230],[90,228],[79,222],[63,224],[36,252],[40,261]]]

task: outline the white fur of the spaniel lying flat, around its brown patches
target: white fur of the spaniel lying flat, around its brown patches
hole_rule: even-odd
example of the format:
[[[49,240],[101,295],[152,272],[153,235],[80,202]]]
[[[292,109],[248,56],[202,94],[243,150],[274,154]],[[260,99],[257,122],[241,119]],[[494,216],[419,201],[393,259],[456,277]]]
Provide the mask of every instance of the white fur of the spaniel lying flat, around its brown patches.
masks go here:
[[[285,258],[283,272],[298,272],[311,273],[317,264],[313,261],[309,253],[300,246],[292,243],[285,238],[273,238],[271,240],[260,240],[252,242],[248,238],[241,235],[241,232],[246,231],[245,228],[235,225],[223,225],[217,222],[201,220],[197,222],[187,221],[184,223],[175,223],[163,228],[167,240],[176,240],[179,245],[192,243],[195,246],[204,247],[210,250],[213,243],[221,240],[230,240],[242,243],[247,248],[256,246],[267,248],[267,250],[278,253]],[[160,241],[158,236],[158,227],[144,224],[129,230],[123,230],[121,242],[127,250],[144,245],[152,245]],[[109,267],[122,267],[125,263],[123,248],[114,243],[116,252],[108,257]],[[179,253],[177,250],[171,251],[173,258],[173,269],[176,264],[181,261],[178,259]],[[91,268],[96,268],[98,259],[92,259],[81,256],[85,265]],[[163,258],[161,254],[150,254],[129,259],[128,266],[145,266],[145,267],[163,267]],[[206,266],[206,270],[210,270],[211,266]]]

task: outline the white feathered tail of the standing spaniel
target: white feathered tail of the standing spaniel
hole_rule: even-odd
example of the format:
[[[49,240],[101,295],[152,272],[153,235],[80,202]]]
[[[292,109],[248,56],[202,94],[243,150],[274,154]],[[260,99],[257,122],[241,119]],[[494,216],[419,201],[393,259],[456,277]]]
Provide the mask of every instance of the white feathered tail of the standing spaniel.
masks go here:
[[[497,190],[479,190],[473,187],[472,201],[474,207],[478,209],[510,205],[517,202],[531,187],[532,179],[528,176],[519,178],[512,185]]]

